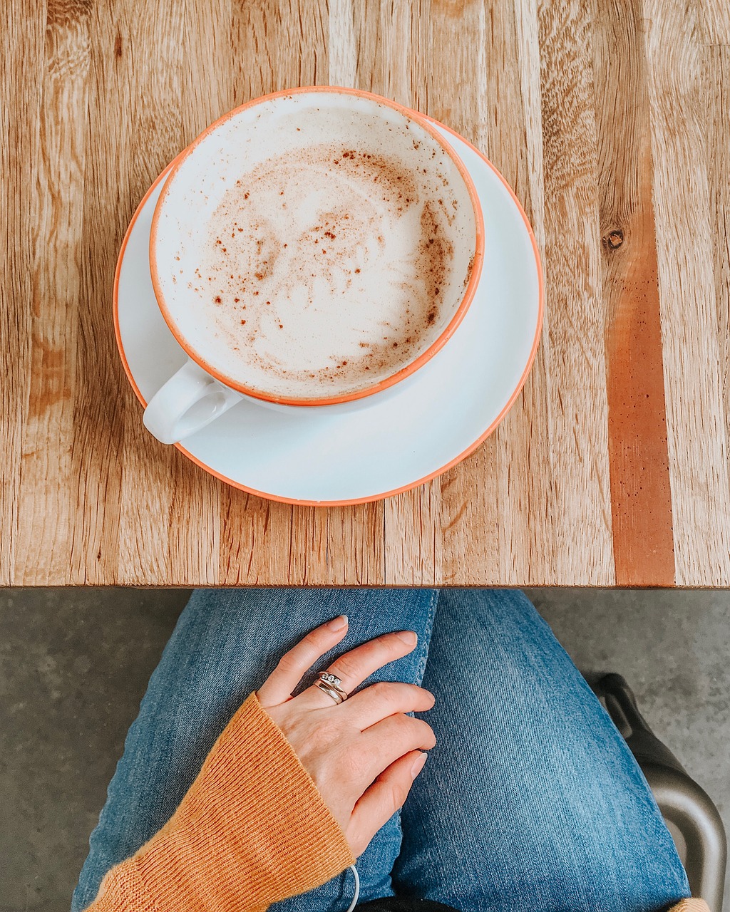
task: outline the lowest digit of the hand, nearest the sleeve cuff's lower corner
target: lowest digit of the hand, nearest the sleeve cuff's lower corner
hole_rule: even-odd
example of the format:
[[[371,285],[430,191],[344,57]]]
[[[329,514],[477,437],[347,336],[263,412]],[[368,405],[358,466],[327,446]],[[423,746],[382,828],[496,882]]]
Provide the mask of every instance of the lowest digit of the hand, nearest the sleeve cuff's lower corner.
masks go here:
[[[413,780],[422,771],[428,754],[409,751],[381,772],[352,810],[348,840],[353,855],[365,851],[372,837],[405,803]]]

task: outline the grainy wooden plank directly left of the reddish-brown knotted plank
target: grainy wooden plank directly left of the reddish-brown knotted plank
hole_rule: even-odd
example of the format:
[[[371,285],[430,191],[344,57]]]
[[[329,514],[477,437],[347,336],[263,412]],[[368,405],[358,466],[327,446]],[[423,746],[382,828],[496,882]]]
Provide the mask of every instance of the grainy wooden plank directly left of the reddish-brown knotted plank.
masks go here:
[[[548,435],[555,557],[548,582],[614,582],[605,310],[600,283],[590,21],[579,0],[538,4],[549,314]]]

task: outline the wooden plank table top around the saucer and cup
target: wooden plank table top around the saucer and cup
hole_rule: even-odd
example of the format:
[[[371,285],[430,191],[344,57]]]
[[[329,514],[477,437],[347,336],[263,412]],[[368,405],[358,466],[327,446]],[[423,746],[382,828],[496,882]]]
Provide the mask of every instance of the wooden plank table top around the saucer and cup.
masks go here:
[[[725,0],[15,5],[0,584],[730,586]],[[250,98],[328,83],[485,151],[533,224],[546,317],[466,461],[379,503],[293,507],[143,429],[111,290],[178,151]]]

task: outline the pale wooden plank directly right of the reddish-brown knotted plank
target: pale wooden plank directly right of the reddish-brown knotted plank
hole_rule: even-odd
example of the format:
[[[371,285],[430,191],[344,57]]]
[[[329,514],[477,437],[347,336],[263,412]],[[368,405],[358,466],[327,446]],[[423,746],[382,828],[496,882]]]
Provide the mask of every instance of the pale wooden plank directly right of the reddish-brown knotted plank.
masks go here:
[[[696,10],[645,0],[674,554],[679,586],[730,584],[706,90]]]

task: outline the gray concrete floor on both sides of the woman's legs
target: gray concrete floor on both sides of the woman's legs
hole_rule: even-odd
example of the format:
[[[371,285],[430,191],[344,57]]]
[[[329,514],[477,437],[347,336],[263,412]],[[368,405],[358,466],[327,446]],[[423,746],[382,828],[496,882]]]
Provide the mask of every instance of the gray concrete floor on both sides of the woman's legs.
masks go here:
[[[730,829],[730,593],[528,594],[579,668],[629,679]],[[0,912],[68,909],[125,731],[186,597],[0,590]]]

